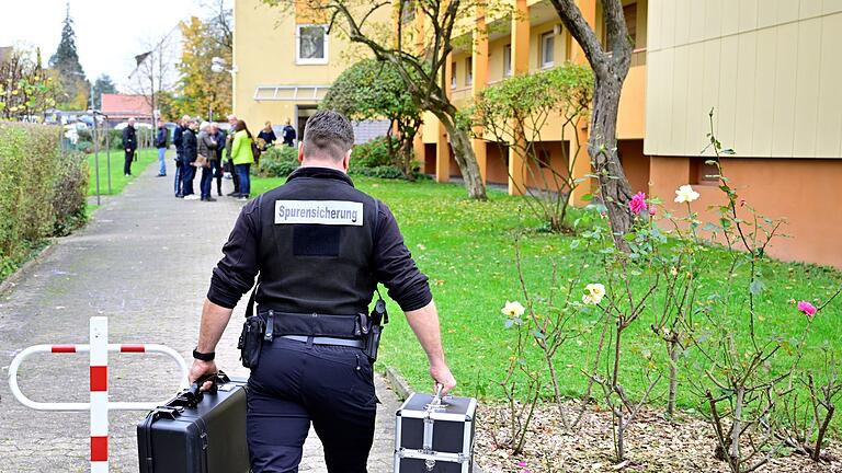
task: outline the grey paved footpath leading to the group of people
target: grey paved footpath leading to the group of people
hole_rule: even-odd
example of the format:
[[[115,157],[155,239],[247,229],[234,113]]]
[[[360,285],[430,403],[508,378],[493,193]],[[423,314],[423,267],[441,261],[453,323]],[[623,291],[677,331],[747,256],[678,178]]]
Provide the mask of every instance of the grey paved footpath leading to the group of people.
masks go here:
[[[111,343],[160,343],[191,359],[210,269],[242,203],[175,199],[172,177],[156,177],[156,168],[105,201],[86,229],[56,242],[29,276],[0,295],[0,472],[84,472],[89,465],[87,412],[31,411],[9,391],[9,364],[22,348],[88,343],[88,319],[105,315]],[[243,310],[244,300],[217,349],[218,366],[234,376],[247,374],[236,353]],[[19,379],[31,399],[88,401],[87,355],[44,354],[24,364]],[[109,364],[115,402],[164,400],[178,389],[175,366],[167,357],[112,354]],[[383,404],[372,473],[391,471],[398,406],[380,379],[377,393]],[[111,414],[112,472],[138,471],[135,429],[145,414]],[[312,431],[301,471],[327,471]]]

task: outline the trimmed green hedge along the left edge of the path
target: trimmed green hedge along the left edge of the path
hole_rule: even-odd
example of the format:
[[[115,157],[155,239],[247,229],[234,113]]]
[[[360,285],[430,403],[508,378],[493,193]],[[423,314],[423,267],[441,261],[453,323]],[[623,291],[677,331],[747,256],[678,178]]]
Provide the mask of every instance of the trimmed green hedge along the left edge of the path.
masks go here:
[[[0,123],[0,279],[44,239],[84,221],[88,164],[62,152],[60,128]]]

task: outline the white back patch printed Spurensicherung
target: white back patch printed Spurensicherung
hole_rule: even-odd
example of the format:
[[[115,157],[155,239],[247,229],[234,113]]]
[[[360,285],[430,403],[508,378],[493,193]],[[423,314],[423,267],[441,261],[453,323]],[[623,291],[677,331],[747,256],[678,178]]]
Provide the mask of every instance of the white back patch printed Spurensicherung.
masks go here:
[[[363,226],[363,204],[346,200],[275,200],[275,223]]]

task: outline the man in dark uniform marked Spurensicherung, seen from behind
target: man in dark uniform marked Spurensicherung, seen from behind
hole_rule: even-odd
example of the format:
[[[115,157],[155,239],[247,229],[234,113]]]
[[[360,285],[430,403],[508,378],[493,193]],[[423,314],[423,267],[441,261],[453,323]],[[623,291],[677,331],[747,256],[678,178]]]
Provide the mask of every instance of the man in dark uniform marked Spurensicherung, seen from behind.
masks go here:
[[[216,372],[214,349],[232,308],[259,276],[261,337],[248,390],[248,440],[254,473],[295,472],[312,422],[331,473],[366,472],[377,396],[360,323],[383,282],[407,315],[447,392],[426,276],[383,203],[348,177],[353,129],[339,113],[310,117],[301,166],[286,184],[247,204],[213,272],[190,381]]]

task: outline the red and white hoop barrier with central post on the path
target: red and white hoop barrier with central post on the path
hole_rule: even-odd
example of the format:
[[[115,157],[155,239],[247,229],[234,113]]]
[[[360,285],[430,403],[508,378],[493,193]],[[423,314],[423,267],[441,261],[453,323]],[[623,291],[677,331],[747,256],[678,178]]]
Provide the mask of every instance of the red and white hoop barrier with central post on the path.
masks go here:
[[[91,473],[109,471],[109,411],[151,411],[162,402],[110,402],[109,401],[109,351],[114,353],[159,353],[174,359],[181,368],[180,389],[187,384],[187,364],[174,349],[156,344],[109,344],[109,319],[91,318],[90,343],[87,345],[34,345],[15,355],[9,365],[9,388],[14,397],[35,411],[90,411],[91,413]],[[18,369],[29,356],[38,353],[90,354],[90,402],[48,403],[26,397],[18,385]]]

